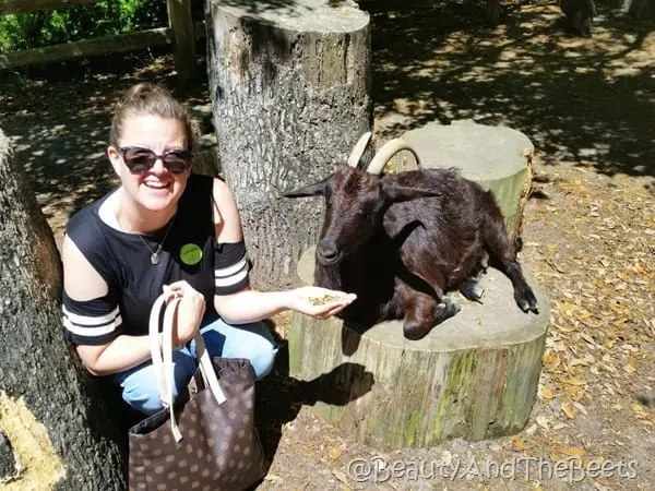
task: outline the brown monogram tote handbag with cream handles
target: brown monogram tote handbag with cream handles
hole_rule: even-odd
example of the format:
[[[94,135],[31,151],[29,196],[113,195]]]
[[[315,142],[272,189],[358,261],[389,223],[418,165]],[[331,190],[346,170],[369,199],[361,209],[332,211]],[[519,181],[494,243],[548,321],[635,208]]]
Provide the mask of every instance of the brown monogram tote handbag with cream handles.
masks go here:
[[[253,420],[252,368],[248,360],[210,359],[199,333],[199,369],[189,384],[189,399],[174,405],[171,325],[178,302],[162,295],[151,311],[151,352],[164,409],[130,428],[129,489],[246,489],[267,468]]]

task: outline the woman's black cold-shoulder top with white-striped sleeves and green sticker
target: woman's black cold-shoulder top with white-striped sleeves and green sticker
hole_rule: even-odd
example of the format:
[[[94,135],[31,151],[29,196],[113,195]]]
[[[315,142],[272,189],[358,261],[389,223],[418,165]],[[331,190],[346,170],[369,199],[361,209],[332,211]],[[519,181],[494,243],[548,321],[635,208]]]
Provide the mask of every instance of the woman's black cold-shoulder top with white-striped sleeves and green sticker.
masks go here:
[[[205,318],[216,316],[214,295],[236,292],[248,286],[243,242],[215,243],[212,189],[211,177],[190,176],[172,224],[141,237],[103,221],[98,211],[109,194],[73,215],[67,233],[105,279],[108,294],[81,302],[64,292],[63,325],[72,343],[99,345],[121,333],[147,334],[150,310],[162,287],[180,279],[204,295]],[[162,240],[159,263],[153,265],[152,251]]]

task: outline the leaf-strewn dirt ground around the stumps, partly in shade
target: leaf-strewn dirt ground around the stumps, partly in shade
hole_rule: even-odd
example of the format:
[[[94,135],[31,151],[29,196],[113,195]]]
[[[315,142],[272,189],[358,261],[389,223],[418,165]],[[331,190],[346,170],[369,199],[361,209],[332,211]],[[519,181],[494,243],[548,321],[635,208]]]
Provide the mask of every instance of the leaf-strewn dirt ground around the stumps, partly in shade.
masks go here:
[[[471,118],[535,145],[521,260],[551,300],[538,398],[515,435],[371,448],[312,412],[283,351],[261,391],[273,464],[259,489],[652,489],[655,25],[597,2],[583,39],[562,33],[553,2],[505,4],[493,28],[460,3],[403,3],[364,4],[374,9],[378,137]],[[4,75],[0,127],[60,237],[70,213],[114,185],[103,152],[116,97],[136,80],[172,86],[170,58],[145,53],[72,80]],[[211,147],[205,83],[179,95]],[[288,319],[275,321],[284,336]]]

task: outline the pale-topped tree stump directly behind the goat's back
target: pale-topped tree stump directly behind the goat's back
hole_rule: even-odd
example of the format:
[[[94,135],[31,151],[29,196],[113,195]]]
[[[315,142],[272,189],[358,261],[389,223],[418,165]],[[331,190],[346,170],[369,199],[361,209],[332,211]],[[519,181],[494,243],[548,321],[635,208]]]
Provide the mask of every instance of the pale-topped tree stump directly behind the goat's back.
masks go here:
[[[462,176],[493,192],[511,237],[520,237],[532,185],[534,145],[523,133],[471,120],[428,123],[402,135],[422,168],[457,167]]]

